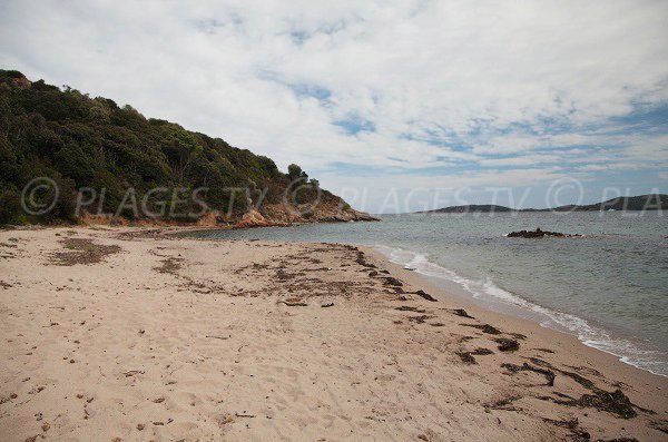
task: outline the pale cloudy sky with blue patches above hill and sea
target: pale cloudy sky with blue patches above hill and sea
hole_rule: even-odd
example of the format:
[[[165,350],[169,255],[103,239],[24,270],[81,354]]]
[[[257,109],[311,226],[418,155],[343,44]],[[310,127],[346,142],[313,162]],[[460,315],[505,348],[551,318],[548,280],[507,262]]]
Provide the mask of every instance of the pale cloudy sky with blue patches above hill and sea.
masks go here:
[[[217,3],[3,0],[0,68],[374,213],[668,190],[666,1]]]

